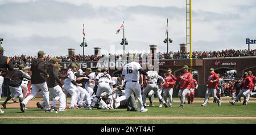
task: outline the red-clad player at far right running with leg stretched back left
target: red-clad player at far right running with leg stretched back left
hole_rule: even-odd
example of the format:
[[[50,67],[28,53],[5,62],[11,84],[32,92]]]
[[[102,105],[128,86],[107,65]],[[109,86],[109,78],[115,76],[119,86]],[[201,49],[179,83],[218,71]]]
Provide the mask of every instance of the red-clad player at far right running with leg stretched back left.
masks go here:
[[[229,102],[232,105],[234,105],[236,102],[238,102],[238,99],[243,96],[245,99],[243,100],[243,105],[247,105],[249,99],[251,90],[253,90],[253,81],[251,81],[251,77],[248,75],[247,72],[243,73],[243,82],[242,82],[242,89],[240,90],[239,94],[237,95],[236,99],[233,99],[233,101]]]

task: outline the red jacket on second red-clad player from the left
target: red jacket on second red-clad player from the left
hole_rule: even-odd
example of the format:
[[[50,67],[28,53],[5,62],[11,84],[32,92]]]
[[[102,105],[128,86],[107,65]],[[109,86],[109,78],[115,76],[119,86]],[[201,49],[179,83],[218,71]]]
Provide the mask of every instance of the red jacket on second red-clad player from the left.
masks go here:
[[[180,76],[182,76],[183,79],[180,79]],[[191,80],[192,80],[192,77],[191,77],[191,73],[190,72],[182,73],[181,75],[179,75],[177,77],[177,81],[180,81],[180,89],[181,90],[190,89]]]

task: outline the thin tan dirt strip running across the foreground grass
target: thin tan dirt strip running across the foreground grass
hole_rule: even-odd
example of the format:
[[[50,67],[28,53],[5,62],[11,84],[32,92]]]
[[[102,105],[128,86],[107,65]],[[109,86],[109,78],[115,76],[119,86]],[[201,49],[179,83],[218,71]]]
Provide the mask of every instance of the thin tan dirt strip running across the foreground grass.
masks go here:
[[[100,119],[100,120],[256,120],[256,117],[199,117],[199,116],[0,116],[0,119]]]

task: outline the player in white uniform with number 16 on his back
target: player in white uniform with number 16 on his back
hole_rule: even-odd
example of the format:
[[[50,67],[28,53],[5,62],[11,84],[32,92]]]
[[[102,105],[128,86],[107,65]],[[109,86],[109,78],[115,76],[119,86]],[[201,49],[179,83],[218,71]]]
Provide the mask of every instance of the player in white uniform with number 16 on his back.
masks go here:
[[[128,99],[134,92],[139,105],[141,107],[141,112],[146,112],[147,109],[144,108],[141,95],[141,85],[139,84],[139,73],[147,76],[147,73],[142,69],[141,65],[135,62],[135,55],[131,55],[131,62],[123,66],[122,75],[125,76],[125,96],[121,96],[114,99],[114,108],[117,108],[121,101]]]

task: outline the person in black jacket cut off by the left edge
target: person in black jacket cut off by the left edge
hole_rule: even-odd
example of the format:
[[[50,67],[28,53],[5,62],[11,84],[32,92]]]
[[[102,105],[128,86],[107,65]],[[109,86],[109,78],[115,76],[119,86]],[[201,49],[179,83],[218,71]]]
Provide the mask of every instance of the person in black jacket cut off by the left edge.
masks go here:
[[[2,85],[3,85],[3,80],[5,79],[5,76],[7,74],[7,68],[11,71],[14,69],[13,62],[11,59],[7,56],[3,56],[3,47],[0,47],[0,99],[2,95]],[[4,111],[1,110],[0,108],[0,114],[3,114]]]

